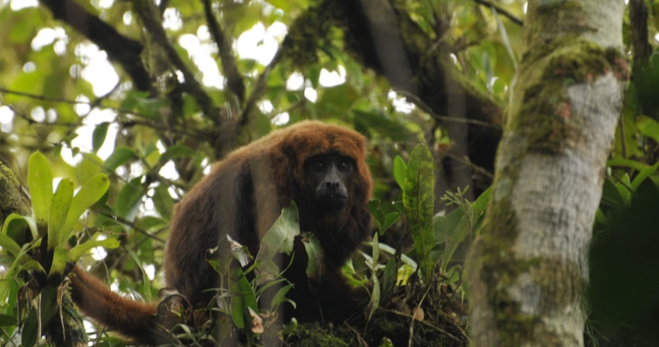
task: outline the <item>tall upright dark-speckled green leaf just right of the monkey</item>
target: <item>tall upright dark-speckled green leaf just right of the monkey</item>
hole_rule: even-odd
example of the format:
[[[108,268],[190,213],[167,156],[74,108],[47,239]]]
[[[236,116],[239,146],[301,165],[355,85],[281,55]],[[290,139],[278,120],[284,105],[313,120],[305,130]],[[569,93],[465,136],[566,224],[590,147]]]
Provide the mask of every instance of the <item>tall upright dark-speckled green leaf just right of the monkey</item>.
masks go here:
[[[422,278],[430,280],[434,262],[430,251],[435,246],[434,164],[427,146],[420,144],[410,154],[403,188],[403,204]]]

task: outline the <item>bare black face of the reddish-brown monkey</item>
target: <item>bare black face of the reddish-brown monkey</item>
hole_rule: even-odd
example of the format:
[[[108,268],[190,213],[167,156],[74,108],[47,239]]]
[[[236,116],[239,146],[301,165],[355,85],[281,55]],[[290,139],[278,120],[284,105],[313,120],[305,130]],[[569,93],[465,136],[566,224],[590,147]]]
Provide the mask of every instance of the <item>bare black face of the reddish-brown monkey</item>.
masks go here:
[[[322,154],[305,162],[305,171],[315,188],[316,203],[326,212],[345,208],[348,185],[354,175],[354,160],[343,155]]]

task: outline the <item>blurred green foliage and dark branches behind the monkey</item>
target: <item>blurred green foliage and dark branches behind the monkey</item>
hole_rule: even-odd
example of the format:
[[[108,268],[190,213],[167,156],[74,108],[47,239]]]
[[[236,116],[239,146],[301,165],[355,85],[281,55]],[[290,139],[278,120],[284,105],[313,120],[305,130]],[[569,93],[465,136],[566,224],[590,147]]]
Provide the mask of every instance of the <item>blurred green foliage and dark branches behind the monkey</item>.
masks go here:
[[[385,223],[386,214],[403,212],[395,158],[407,161],[422,143],[436,167],[435,235],[450,244],[441,262],[448,271],[462,262],[463,240],[484,208],[481,201],[474,210],[472,201],[492,178],[526,2],[0,0],[0,160],[24,183],[34,151],[46,155],[55,183],[71,178],[80,187],[106,174],[106,206],[84,214],[76,230],[79,239],[103,231],[122,246],[98,248],[81,262],[114,290],[155,298],[173,205],[228,151],[302,119],[354,128],[370,141],[373,196]],[[659,246],[656,237],[626,234],[624,222],[656,232],[656,203],[641,203],[647,211],[635,206],[656,201],[651,189],[659,185],[658,11],[655,1],[633,0],[625,17],[634,69],[606,172],[594,232],[594,245],[604,248],[593,252],[594,264],[601,254],[632,259],[607,240],[622,237],[632,253],[634,242]],[[404,219],[389,227],[379,242],[416,260],[440,258],[415,256]],[[598,241],[601,235],[609,238]],[[630,267],[641,269],[633,261],[616,273]],[[644,282],[656,282],[653,269],[614,274],[619,287],[594,281],[592,290],[618,288],[607,291],[615,296],[656,288]],[[443,273],[454,278],[452,290],[461,286],[455,271]],[[15,316],[17,307],[10,298],[0,310]],[[629,318],[635,313],[594,312],[613,326],[606,334],[621,324],[642,329]],[[598,335],[599,323],[589,324],[588,343],[615,346]]]

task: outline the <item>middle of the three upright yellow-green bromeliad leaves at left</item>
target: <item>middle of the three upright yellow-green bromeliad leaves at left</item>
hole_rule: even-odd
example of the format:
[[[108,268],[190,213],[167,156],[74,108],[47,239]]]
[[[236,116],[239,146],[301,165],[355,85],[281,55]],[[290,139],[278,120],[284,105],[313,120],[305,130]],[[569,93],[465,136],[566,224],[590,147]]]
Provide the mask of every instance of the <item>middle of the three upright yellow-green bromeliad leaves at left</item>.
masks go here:
[[[55,190],[55,195],[53,195],[51,211],[48,217],[49,250],[55,248],[55,246],[60,246],[62,242],[68,241],[67,239],[63,239],[63,236],[68,236],[69,230],[64,230],[64,228],[73,197],[74,183],[68,178],[60,180],[60,184],[58,184],[57,190]]]

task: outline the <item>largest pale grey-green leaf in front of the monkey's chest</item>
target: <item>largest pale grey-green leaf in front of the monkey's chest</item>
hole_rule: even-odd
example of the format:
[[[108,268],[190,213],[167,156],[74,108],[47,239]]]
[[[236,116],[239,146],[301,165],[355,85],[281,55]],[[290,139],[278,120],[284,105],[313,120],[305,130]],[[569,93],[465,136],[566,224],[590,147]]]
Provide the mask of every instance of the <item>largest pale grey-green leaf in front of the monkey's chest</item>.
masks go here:
[[[273,223],[273,226],[261,239],[261,247],[257,260],[272,259],[276,253],[291,254],[293,239],[300,235],[300,217],[298,206],[291,201],[291,205],[282,209],[282,214]]]

